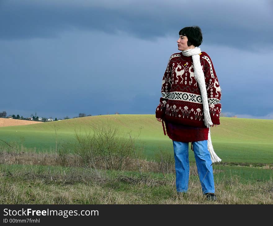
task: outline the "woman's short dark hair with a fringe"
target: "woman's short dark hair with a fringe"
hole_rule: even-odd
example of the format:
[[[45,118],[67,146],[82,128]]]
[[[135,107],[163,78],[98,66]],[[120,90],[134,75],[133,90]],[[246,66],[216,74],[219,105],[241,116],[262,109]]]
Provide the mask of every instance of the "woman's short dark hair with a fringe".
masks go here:
[[[179,35],[187,36],[188,46],[194,45],[198,47],[203,41],[201,28],[199,28],[198,26],[182,28],[179,31]]]

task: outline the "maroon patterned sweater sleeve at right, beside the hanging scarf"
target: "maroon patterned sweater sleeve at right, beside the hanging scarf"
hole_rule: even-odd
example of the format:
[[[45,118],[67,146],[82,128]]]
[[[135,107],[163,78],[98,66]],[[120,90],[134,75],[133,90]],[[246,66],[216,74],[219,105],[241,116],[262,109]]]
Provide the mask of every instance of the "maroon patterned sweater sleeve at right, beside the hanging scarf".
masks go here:
[[[208,54],[201,55],[204,59],[204,76],[208,94],[209,113],[213,124],[220,124],[221,113],[221,88],[216,76],[212,60]]]

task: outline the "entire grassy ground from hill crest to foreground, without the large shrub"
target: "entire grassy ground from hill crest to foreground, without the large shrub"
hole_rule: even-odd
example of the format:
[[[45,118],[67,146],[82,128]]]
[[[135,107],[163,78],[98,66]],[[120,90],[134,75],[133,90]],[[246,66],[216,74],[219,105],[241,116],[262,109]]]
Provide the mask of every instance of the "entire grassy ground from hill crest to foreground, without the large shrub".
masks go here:
[[[211,128],[214,150],[222,159],[213,164],[216,204],[272,204],[273,120],[221,117],[220,121],[221,125]],[[143,161],[141,167],[130,164],[126,171],[81,167],[75,164],[75,154],[67,159],[71,165],[58,162],[61,155],[55,152],[56,144],[70,146],[75,131],[84,135],[94,126],[109,124],[136,138],[142,153],[136,161]],[[188,197],[176,195],[172,141],[154,115],[100,115],[0,127],[0,140],[2,204],[208,203],[191,150]],[[169,161],[168,156],[172,159],[168,162],[171,171],[163,170],[158,158],[162,151],[164,161]]]

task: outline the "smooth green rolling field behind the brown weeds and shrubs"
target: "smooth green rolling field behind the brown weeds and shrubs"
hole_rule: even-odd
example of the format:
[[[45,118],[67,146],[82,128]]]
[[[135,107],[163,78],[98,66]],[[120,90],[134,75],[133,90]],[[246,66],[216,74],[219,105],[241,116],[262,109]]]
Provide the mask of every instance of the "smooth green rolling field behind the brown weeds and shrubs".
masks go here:
[[[0,139],[16,142],[36,151],[53,151],[57,143],[75,139],[79,133],[92,131],[93,125],[113,123],[120,131],[131,133],[143,148],[147,160],[160,150],[172,153],[172,141],[163,134],[162,124],[154,115],[98,115],[26,126],[0,127]],[[273,163],[273,120],[220,118],[221,125],[211,128],[213,147],[226,163]],[[2,142],[2,146],[5,145]],[[194,155],[190,151],[190,161]]]

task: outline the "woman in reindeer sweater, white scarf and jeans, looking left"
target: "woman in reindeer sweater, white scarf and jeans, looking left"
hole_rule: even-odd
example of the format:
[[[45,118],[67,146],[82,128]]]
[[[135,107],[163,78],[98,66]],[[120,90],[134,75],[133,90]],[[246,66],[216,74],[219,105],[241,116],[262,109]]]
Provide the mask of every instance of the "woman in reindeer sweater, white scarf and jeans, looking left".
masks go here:
[[[209,127],[220,124],[221,89],[210,57],[198,48],[202,40],[198,26],[179,31],[177,46],[181,52],[169,59],[155,116],[166,135],[165,122],[173,141],[177,193],[184,196],[188,190],[191,142],[203,194],[215,201],[212,163],[221,159],[213,151]]]

